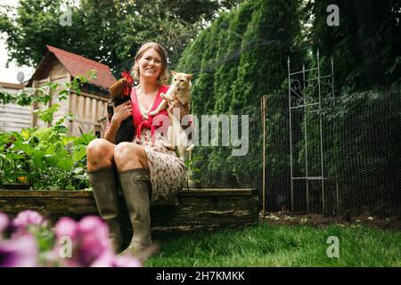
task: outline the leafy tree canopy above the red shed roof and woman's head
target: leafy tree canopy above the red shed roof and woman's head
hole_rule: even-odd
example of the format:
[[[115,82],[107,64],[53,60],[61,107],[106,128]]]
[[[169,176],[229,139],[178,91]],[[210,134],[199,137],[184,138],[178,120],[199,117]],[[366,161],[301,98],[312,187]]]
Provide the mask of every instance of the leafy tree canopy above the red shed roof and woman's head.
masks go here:
[[[0,32],[6,34],[10,60],[20,65],[37,65],[45,45],[111,67],[126,61],[132,65],[138,47],[145,41],[156,41],[170,51],[174,66],[185,45],[198,34],[202,21],[212,20],[216,11],[230,9],[238,2],[20,0],[16,10],[3,5]],[[60,19],[69,14],[70,25],[61,25]],[[127,67],[117,69],[119,74]]]

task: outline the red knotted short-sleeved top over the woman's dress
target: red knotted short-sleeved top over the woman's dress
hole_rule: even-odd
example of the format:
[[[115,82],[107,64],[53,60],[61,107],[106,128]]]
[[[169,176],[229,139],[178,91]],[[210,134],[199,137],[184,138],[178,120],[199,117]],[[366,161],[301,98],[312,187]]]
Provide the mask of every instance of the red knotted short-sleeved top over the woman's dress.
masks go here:
[[[158,108],[158,106],[160,105],[160,102],[163,100],[163,98],[161,98],[161,96],[160,96],[160,93],[166,94],[168,92],[168,87],[169,87],[168,85],[162,85],[160,87],[159,92],[156,95],[156,99],[154,100],[153,105],[151,106],[151,110],[149,110],[149,111],[156,110]],[[137,138],[139,140],[141,139],[141,131],[142,131],[142,127],[144,126],[146,128],[151,129],[151,143],[154,144],[156,128],[163,126],[163,121],[168,119],[168,110],[160,110],[160,113],[157,114],[156,116],[154,116],[154,118],[156,118],[156,121],[159,122],[158,126],[154,126],[155,124],[153,124],[153,119],[154,119],[153,116],[148,115],[148,119],[143,119],[141,110],[139,109],[139,104],[136,99],[135,88],[132,88],[131,104],[132,104],[132,117],[133,117],[133,121],[134,121],[134,126],[136,128]],[[164,116],[166,116],[166,117],[164,117]],[[169,122],[169,121],[167,121],[167,122]],[[165,127],[168,127],[168,124]]]

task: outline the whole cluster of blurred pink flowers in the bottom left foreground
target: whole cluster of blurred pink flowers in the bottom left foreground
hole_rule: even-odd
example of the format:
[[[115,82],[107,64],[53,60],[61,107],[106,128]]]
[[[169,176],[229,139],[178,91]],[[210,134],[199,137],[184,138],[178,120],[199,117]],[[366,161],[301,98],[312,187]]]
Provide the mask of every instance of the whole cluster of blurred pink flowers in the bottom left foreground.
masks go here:
[[[6,239],[4,230],[11,233]],[[10,236],[10,234],[7,234]],[[116,256],[109,228],[98,216],[79,222],[63,217],[50,228],[35,211],[23,211],[12,222],[0,213],[0,267],[92,266],[138,267],[143,259]]]

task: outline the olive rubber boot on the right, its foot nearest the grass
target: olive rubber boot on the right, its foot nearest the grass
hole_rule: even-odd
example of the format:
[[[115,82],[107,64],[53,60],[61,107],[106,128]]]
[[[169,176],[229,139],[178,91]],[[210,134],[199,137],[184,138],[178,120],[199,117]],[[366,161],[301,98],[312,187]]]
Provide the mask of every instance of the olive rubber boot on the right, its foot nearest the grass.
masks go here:
[[[132,240],[121,255],[139,256],[151,245],[151,182],[145,168],[119,172],[119,182],[126,200],[133,228]]]

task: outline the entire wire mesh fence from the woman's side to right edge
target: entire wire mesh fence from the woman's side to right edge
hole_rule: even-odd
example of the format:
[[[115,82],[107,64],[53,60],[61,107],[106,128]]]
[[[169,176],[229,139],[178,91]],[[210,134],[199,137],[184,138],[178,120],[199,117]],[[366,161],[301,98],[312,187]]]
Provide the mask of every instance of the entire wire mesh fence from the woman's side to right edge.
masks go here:
[[[233,155],[238,146],[222,146],[232,125],[223,127],[225,115],[213,118],[220,120],[220,141],[195,147],[191,187],[254,188],[262,201],[265,147],[267,211],[400,218],[401,86],[336,97],[321,83],[320,108],[313,104],[318,85],[309,82],[311,105],[299,102],[300,108],[291,109],[291,124],[288,92],[266,95],[265,146],[260,102],[227,116],[230,122],[238,118],[240,137],[248,135],[245,155]],[[248,116],[248,125],[241,124],[241,115]],[[198,118],[201,141],[202,132],[211,136],[216,127],[206,130]]]

